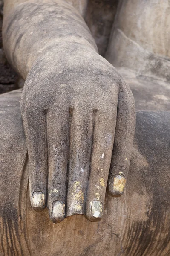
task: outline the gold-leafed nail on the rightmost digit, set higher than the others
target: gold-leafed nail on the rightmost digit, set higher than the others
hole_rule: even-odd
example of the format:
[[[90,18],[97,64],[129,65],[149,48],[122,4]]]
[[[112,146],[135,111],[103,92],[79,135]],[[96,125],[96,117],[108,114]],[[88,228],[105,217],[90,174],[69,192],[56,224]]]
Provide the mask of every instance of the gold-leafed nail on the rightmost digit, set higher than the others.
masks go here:
[[[116,174],[110,179],[109,191],[112,195],[121,196],[124,193],[126,179],[121,174]]]

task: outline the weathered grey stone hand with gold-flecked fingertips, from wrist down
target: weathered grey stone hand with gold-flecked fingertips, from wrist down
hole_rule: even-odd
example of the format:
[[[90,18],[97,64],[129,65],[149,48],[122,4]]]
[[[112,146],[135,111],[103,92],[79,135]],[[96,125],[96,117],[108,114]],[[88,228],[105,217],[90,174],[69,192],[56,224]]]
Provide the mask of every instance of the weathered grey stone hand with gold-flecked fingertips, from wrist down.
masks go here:
[[[124,191],[133,144],[130,88],[104,58],[80,48],[63,59],[63,47],[58,62],[54,52],[38,59],[21,102],[32,207],[47,205],[55,223],[74,214],[101,219],[106,188]]]

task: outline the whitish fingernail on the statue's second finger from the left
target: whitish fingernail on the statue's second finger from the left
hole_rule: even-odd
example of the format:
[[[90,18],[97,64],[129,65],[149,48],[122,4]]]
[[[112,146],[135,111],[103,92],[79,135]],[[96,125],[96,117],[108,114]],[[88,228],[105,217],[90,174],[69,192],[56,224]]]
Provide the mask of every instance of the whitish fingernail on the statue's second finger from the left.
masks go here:
[[[61,200],[52,203],[52,221],[58,223],[63,221],[65,217],[65,204]]]

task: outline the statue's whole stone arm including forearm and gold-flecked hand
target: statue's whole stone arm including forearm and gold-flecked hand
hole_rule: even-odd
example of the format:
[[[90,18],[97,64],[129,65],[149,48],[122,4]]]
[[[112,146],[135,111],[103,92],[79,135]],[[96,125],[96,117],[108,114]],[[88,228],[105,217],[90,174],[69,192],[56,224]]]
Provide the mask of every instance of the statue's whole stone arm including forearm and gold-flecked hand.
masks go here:
[[[6,0],[3,44],[26,80],[21,113],[32,207],[47,206],[53,222],[73,214],[100,220],[106,188],[122,195],[130,165],[130,88],[63,1]]]

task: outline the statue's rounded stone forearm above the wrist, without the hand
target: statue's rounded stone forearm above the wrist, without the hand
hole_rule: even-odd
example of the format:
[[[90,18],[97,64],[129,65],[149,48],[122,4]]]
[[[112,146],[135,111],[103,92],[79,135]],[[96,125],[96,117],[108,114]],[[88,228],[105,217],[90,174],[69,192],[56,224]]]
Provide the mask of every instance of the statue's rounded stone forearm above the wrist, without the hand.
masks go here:
[[[39,56],[77,44],[97,51],[95,41],[81,15],[71,5],[57,0],[5,3],[3,44],[14,69],[26,79]],[[54,52],[54,51],[53,51]],[[58,54],[57,54],[58,53]]]

